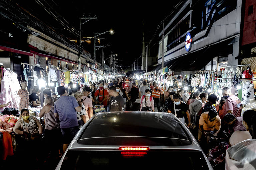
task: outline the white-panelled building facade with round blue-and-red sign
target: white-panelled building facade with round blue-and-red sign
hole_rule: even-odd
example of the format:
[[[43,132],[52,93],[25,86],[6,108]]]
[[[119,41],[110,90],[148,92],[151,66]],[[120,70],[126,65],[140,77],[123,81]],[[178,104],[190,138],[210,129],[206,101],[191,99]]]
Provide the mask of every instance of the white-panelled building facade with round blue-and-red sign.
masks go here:
[[[165,66],[176,74],[192,74],[196,70],[238,65],[235,57],[239,55],[241,11],[242,0],[183,1],[164,23]]]

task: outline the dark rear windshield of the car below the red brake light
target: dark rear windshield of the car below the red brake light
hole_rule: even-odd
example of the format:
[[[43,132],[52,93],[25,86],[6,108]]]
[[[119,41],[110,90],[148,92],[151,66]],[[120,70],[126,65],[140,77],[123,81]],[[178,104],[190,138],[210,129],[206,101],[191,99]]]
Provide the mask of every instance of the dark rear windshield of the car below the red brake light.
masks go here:
[[[121,151],[69,150],[61,170],[93,169],[208,169],[200,151],[148,151],[146,154],[126,155]]]

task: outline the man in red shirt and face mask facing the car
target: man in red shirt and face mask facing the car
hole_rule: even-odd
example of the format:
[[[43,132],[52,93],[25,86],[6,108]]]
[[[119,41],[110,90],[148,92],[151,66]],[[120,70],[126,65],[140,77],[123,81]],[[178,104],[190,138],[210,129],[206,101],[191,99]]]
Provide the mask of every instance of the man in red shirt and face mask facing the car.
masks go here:
[[[107,110],[107,106],[108,106],[107,99],[108,99],[108,91],[104,89],[103,84],[101,83],[99,84],[99,89],[96,90],[96,92],[94,93],[94,101],[98,105],[103,104],[104,108]]]

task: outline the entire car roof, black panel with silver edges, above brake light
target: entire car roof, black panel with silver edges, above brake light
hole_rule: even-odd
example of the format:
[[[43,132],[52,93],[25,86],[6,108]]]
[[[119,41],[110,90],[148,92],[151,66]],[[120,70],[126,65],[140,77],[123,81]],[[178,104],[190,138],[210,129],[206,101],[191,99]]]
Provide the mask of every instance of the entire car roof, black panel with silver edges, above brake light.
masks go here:
[[[173,115],[162,112],[95,114],[76,135],[70,149],[118,149],[119,146],[201,150],[190,131]]]

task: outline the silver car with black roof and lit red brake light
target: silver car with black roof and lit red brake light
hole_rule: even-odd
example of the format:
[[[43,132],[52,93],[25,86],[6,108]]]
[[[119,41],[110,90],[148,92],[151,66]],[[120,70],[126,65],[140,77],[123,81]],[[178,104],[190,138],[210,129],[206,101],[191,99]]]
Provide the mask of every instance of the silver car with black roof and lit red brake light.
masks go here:
[[[75,136],[57,170],[212,169],[199,144],[173,114],[105,112]]]

